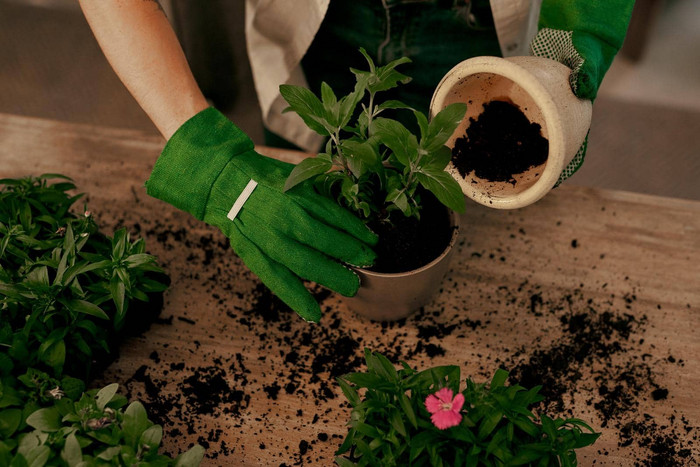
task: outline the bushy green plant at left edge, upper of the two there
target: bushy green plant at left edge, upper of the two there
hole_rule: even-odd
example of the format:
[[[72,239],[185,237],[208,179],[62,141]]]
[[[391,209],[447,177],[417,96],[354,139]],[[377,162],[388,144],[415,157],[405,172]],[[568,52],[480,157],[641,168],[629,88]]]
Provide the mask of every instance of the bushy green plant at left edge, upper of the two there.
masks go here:
[[[55,375],[68,355],[69,371],[89,370],[130,303],[169,283],[142,239],[124,229],[110,238],[89,211],[73,214],[74,188],[57,174],[0,180],[0,346],[20,367]]]

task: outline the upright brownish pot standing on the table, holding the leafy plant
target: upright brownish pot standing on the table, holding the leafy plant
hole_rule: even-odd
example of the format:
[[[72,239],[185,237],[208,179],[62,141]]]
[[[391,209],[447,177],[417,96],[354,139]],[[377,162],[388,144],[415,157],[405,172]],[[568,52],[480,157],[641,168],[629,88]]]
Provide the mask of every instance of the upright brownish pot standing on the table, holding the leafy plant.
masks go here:
[[[449,269],[453,250],[459,235],[459,215],[450,211],[452,238],[440,256],[418,269],[400,273],[381,273],[356,268],[361,287],[348,308],[375,321],[394,321],[405,318],[430,303],[440,289]]]

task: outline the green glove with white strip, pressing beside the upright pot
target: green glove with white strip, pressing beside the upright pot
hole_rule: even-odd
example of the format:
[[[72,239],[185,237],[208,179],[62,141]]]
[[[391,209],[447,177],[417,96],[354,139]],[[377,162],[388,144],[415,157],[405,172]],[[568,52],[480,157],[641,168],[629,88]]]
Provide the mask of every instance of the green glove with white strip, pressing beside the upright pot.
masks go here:
[[[256,153],[250,138],[208,108],[170,138],[146,191],[218,227],[272,292],[317,322],[320,307],[299,277],[352,296],[359,278],[340,262],[371,265],[368,245],[377,238],[310,184],[284,192],[293,167]]]

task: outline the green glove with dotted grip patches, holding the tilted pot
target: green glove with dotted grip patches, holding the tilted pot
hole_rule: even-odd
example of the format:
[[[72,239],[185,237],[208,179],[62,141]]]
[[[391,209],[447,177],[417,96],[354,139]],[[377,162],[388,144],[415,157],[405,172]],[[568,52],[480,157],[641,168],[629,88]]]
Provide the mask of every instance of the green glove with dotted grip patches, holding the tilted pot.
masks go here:
[[[574,94],[594,100],[627,33],[634,0],[543,0],[532,54],[571,68]],[[559,182],[583,164],[588,137]]]

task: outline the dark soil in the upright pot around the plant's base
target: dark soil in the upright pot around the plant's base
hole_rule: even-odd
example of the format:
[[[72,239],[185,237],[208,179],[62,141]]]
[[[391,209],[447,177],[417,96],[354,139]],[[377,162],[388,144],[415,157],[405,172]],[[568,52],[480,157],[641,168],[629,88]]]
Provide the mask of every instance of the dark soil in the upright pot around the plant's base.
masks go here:
[[[422,192],[420,219],[391,214],[391,223],[374,221],[369,227],[379,236],[377,260],[371,271],[383,273],[418,269],[440,256],[452,239],[449,212],[430,192]]]

